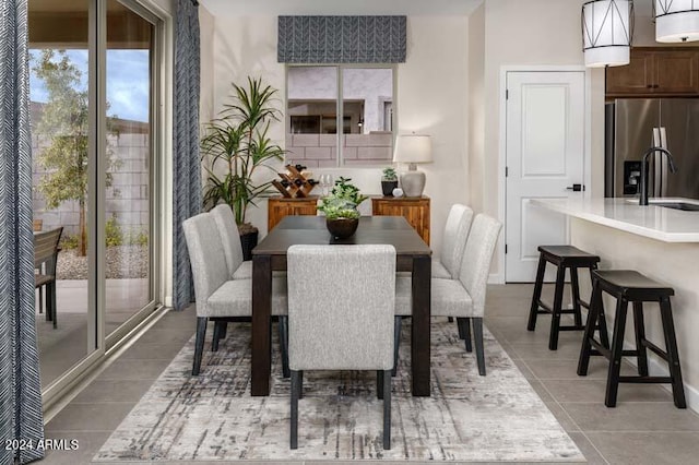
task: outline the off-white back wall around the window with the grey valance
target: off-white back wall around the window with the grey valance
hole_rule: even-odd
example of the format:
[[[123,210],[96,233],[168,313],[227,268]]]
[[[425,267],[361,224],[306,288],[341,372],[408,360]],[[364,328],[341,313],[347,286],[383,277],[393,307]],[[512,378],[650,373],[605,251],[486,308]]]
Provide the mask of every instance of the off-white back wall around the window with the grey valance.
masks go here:
[[[285,95],[284,64],[276,62],[276,16],[215,17],[213,96],[216,110],[230,94],[230,83],[248,75]],[[431,246],[438,253],[441,229],[454,202],[469,203],[466,141],[469,129],[467,39],[465,16],[411,16],[407,21],[407,61],[398,67],[395,111],[401,132],[433,136],[435,163],[424,165],[425,194],[431,198]],[[202,86],[206,84],[202,82]],[[202,92],[206,91],[202,88]],[[271,138],[283,146],[284,126],[274,124]],[[401,167],[403,169],[404,167]],[[282,167],[279,167],[282,170]],[[365,193],[380,193],[380,168],[333,168],[350,176]],[[319,171],[316,172],[316,176]],[[266,233],[266,207],[251,211],[251,220]]]

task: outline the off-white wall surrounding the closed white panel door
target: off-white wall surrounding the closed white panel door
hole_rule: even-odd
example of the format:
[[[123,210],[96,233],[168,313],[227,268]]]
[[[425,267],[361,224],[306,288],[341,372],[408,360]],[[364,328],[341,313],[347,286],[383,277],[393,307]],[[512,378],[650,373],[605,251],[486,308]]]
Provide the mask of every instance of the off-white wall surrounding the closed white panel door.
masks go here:
[[[485,138],[484,150],[471,154],[473,203],[500,216],[499,130],[500,75],[503,67],[582,65],[580,13],[584,0],[487,0],[485,2]],[[593,195],[604,191],[604,71],[591,70],[592,82],[592,186]],[[580,111],[584,111],[581,108]],[[507,225],[506,225],[507,226]],[[493,273],[502,273],[502,247]]]

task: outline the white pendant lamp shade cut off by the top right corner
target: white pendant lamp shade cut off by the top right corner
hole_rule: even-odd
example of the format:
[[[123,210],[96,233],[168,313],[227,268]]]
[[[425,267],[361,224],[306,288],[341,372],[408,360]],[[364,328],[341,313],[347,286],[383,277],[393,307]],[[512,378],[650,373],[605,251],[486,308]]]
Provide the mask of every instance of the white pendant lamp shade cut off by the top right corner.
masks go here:
[[[699,40],[699,0],[653,0],[655,40]]]

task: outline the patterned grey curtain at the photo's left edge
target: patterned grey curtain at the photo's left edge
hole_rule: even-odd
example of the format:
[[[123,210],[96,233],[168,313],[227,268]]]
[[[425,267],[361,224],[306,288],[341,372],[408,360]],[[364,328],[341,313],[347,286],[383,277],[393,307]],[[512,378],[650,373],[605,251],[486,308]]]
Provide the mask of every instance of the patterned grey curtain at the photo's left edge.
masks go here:
[[[27,0],[0,2],[0,464],[44,456],[34,321]]]

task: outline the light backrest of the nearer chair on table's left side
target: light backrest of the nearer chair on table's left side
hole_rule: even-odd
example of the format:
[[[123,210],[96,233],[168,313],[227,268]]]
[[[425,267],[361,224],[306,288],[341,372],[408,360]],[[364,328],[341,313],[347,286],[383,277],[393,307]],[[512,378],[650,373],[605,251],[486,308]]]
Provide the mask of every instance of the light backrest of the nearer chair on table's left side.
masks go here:
[[[229,278],[221,235],[217,234],[214,217],[209,213],[185,219],[182,229],[192,265],[197,314],[206,317],[206,300]]]

